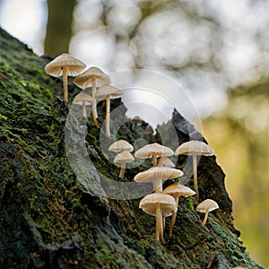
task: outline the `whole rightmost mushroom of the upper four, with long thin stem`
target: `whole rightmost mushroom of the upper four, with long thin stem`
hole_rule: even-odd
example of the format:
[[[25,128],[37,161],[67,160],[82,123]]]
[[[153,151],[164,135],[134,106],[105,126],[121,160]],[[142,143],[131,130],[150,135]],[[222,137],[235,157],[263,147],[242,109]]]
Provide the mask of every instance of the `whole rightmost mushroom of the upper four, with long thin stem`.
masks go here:
[[[106,134],[110,136],[109,130],[109,112],[110,112],[110,99],[116,99],[122,96],[122,91],[117,87],[112,85],[103,85],[101,86],[95,94],[95,98],[98,100],[106,100],[107,109],[106,109]]]

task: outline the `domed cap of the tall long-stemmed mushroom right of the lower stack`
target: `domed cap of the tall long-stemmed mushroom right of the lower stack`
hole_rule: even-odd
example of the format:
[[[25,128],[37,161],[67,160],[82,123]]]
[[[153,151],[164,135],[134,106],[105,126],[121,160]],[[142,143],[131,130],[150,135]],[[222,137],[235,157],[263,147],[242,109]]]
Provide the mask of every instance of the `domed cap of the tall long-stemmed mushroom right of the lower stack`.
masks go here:
[[[178,146],[175,155],[205,155],[212,156],[213,148],[201,141],[188,141]]]

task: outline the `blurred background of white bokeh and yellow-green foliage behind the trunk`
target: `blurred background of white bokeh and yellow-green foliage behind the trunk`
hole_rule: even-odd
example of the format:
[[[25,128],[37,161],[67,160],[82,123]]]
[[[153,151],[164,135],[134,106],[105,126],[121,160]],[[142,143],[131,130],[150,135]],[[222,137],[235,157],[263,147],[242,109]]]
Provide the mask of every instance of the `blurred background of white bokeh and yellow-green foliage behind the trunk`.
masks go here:
[[[241,239],[268,266],[268,10],[268,0],[0,0],[0,26],[39,56],[69,52],[108,74],[172,82],[140,78],[214,148]]]

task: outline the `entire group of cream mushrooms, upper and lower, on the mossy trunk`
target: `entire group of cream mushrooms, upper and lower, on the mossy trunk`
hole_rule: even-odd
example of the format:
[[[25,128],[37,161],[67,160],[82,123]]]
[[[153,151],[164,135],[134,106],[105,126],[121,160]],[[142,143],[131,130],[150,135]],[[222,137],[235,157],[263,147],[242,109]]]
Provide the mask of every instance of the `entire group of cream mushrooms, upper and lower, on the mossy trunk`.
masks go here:
[[[86,68],[86,65],[79,59],[69,54],[57,56],[48,65],[45,66],[45,72],[55,77],[63,76],[64,98],[68,102],[67,76],[76,76],[74,84],[82,90],[91,86],[91,95],[81,91],[73,100],[74,104],[82,105],[82,116],[86,115],[86,106],[91,105],[91,113],[94,124],[100,127],[98,120],[98,112],[96,108],[97,100],[106,100],[106,134],[110,135],[109,131],[109,111],[110,99],[119,98],[122,96],[122,91],[110,84],[108,74],[105,74],[99,67],[91,66]],[[133,129],[142,120],[139,117],[133,119]],[[145,132],[153,134],[152,126],[147,126]],[[134,177],[134,181],[139,183],[152,183],[152,194],[146,195],[140,201],[139,208],[143,212],[156,217],[155,240],[165,243],[163,231],[165,230],[165,218],[172,216],[169,227],[169,237],[172,236],[172,230],[175,225],[179,196],[195,195],[195,204],[198,204],[199,193],[197,184],[197,156],[205,155],[212,156],[213,149],[206,143],[200,141],[189,141],[178,146],[175,152],[166,146],[159,143],[150,143],[143,146],[138,151],[134,151],[134,147],[125,140],[119,140],[112,143],[108,147],[108,151],[117,152],[114,159],[115,163],[121,166],[119,178],[124,178],[126,163],[134,161],[136,158],[152,158],[152,168],[138,173]],[[179,178],[183,176],[180,169],[175,169],[175,165],[169,160],[172,155],[191,155],[193,158],[194,172],[194,190],[183,186],[178,182],[173,183],[169,187],[162,189],[162,184],[168,179]],[[206,199],[201,204],[196,206],[196,211],[204,213],[204,226],[208,213],[219,208],[218,204],[212,199]]]

